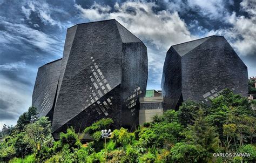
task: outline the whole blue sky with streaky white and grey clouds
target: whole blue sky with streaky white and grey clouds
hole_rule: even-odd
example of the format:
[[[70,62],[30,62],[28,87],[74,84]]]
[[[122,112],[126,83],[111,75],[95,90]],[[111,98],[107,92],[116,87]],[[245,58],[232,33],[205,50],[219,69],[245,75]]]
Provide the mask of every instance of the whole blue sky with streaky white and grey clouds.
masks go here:
[[[167,49],[210,35],[224,36],[256,76],[253,0],[97,1],[0,0],[0,128],[31,105],[39,66],[62,57],[66,29],[115,18],[147,46],[147,89],[160,89]]]

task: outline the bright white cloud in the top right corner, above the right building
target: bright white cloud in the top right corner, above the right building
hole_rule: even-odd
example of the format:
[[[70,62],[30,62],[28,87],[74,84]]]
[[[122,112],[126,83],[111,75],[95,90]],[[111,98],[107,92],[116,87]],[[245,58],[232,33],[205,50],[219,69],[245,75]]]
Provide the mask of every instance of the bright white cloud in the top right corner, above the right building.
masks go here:
[[[241,9],[248,12],[250,17],[232,15],[226,16],[226,23],[231,28],[211,30],[207,35],[221,35],[227,38],[239,55],[255,55],[256,53],[256,15],[255,2],[244,0]],[[254,6],[254,7],[253,7]],[[254,8],[254,9],[253,9]]]

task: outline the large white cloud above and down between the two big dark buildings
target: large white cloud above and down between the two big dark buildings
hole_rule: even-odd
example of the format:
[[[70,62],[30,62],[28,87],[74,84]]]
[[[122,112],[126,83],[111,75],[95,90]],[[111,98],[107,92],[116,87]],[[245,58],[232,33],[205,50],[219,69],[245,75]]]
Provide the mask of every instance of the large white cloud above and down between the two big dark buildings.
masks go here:
[[[189,41],[191,36],[186,23],[179,17],[178,12],[159,11],[155,3],[125,2],[116,3],[114,12],[107,5],[95,3],[89,9],[75,4],[83,18],[90,21],[116,19],[147,46],[149,58],[149,78],[152,82],[160,83],[161,72],[167,50],[171,45]],[[151,76],[153,75],[153,76]]]

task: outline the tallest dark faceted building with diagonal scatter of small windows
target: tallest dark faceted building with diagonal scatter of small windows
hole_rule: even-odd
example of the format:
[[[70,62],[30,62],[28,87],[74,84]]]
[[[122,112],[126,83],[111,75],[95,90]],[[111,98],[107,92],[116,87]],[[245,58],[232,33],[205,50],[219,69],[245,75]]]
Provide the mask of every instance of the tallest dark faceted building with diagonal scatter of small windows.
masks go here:
[[[116,20],[69,28],[63,58],[56,63],[59,65],[54,74],[57,80],[45,81],[45,85],[57,85],[57,89],[51,90],[55,96],[50,97],[55,99],[52,102],[55,139],[68,126],[83,131],[102,118],[112,118],[114,128],[123,126],[133,130],[139,124],[139,96],[145,94],[147,84],[147,49]],[[35,85],[48,76],[39,72]],[[36,107],[46,98],[47,93],[36,98],[40,91],[35,86],[33,101],[38,102],[32,105]],[[41,110],[39,106],[38,111]],[[46,115],[45,110],[41,112],[39,115]]]

